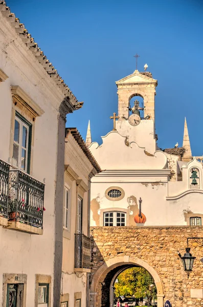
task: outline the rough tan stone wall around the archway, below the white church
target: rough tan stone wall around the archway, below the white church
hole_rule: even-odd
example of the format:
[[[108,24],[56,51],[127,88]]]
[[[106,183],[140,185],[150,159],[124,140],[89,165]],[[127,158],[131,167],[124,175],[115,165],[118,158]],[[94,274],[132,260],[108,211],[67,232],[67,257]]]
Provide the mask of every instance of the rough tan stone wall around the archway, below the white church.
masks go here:
[[[203,299],[201,297],[191,298],[190,291],[191,289],[201,289],[200,292],[202,292],[203,289],[203,263],[200,261],[203,257],[203,239],[189,240],[191,253],[196,257],[189,278],[178,256],[178,251],[182,255],[185,253],[188,237],[203,237],[202,226],[92,227],[91,234],[91,282],[92,291],[95,291],[96,294],[97,306],[101,305],[102,281],[105,280],[110,270],[115,270],[115,265],[112,269],[109,267],[107,270],[106,264],[110,260],[123,258],[122,256],[126,259],[127,256],[129,256],[128,259],[133,256],[135,259],[144,260],[149,265],[149,272],[153,269],[157,272],[161,279],[164,302],[169,299],[173,307],[203,305]],[[132,262],[129,262],[128,265],[130,264]],[[118,263],[118,266],[121,265]],[[101,270],[102,266],[104,267],[103,271]],[[98,270],[99,268],[100,270]],[[98,274],[100,271],[102,274]],[[105,292],[106,296],[109,296],[107,289]]]

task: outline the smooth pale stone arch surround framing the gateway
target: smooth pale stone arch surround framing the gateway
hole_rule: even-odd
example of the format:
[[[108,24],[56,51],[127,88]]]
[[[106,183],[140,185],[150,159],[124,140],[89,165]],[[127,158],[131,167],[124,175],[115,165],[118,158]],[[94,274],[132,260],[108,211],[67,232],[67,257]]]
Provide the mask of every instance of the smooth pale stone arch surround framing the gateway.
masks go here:
[[[100,307],[102,305],[102,291],[106,291],[106,295],[110,297],[110,289],[105,289],[104,280],[112,272],[115,276],[117,272],[133,267],[139,266],[145,268],[154,279],[157,290],[157,307],[163,307],[164,291],[161,279],[157,272],[147,264],[146,261],[137,258],[136,256],[116,256],[106,260],[106,262],[94,273],[94,277],[90,288],[90,306]],[[110,288],[110,287],[109,287]],[[109,301],[109,300],[108,300]],[[109,304],[110,305],[110,304]],[[106,307],[109,307],[106,305]]]

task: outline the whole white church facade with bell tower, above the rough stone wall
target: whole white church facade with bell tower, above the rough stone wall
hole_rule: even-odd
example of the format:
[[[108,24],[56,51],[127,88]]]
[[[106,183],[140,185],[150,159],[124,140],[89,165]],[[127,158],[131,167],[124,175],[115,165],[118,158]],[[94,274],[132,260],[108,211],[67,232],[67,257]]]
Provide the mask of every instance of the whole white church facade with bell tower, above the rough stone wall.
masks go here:
[[[157,80],[135,71],[116,84],[116,130],[102,137],[101,145],[89,146],[103,170],[92,179],[91,226],[124,226],[121,213],[125,226],[201,225],[202,162],[191,157],[186,121],[183,148],[160,150],[154,120]],[[136,104],[129,112],[133,96],[143,97],[144,118]],[[139,219],[140,198],[144,220]]]

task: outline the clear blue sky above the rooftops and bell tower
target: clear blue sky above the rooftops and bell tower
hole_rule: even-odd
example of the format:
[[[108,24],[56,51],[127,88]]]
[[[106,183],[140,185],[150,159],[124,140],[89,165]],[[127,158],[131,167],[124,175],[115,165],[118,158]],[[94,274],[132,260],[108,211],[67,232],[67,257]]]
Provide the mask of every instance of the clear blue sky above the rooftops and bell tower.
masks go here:
[[[117,112],[115,81],[145,63],[158,80],[155,125],[161,148],[182,145],[187,118],[192,154],[203,154],[203,1],[8,0],[82,109],[67,116],[101,143]]]

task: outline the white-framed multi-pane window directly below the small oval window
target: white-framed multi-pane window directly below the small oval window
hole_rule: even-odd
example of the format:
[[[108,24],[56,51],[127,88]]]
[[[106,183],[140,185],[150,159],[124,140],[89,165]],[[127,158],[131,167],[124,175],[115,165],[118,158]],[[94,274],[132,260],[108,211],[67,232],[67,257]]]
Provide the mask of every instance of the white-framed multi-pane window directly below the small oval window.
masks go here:
[[[104,212],[104,226],[126,226],[126,213],[118,211]]]

